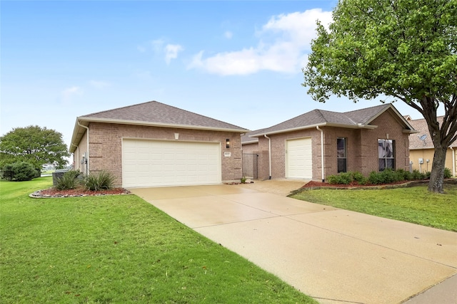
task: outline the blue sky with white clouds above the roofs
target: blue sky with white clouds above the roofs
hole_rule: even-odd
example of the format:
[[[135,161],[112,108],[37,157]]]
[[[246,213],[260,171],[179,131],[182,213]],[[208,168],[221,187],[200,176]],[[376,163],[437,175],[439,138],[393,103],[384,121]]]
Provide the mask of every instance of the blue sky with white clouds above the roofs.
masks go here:
[[[313,109],[301,83],[337,1],[1,1],[1,135],[156,100],[249,130]],[[387,101],[393,101],[387,98]],[[401,102],[402,115],[421,115]]]

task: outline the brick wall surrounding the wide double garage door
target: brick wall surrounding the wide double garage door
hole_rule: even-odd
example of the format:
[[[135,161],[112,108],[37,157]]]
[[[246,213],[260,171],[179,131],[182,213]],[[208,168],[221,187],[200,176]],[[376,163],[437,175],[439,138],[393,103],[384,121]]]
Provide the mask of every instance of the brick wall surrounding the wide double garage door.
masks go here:
[[[91,122],[89,129],[90,171],[108,170],[112,172],[116,177],[116,186],[118,187],[122,185],[122,138],[175,141],[175,133],[179,133],[179,141],[221,143],[222,181],[241,179],[241,135],[237,132],[117,125],[99,122]],[[76,151],[85,149],[84,138]],[[230,139],[229,149],[226,148],[226,139]],[[224,157],[224,152],[231,152],[231,157]]]

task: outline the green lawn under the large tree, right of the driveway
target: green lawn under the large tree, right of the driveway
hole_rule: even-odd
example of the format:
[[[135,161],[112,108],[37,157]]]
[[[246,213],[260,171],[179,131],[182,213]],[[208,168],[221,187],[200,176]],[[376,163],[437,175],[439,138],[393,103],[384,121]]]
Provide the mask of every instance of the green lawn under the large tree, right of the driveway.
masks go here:
[[[445,184],[446,194],[427,186],[396,189],[313,189],[291,197],[316,204],[457,231],[457,185]]]

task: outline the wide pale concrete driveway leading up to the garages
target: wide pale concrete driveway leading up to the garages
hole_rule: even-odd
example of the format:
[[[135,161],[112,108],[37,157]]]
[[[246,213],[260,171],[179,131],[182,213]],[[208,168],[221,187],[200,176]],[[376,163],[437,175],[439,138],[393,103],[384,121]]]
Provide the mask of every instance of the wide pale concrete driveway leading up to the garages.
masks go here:
[[[130,190],[320,303],[401,303],[457,273],[456,233],[291,199],[272,185]]]

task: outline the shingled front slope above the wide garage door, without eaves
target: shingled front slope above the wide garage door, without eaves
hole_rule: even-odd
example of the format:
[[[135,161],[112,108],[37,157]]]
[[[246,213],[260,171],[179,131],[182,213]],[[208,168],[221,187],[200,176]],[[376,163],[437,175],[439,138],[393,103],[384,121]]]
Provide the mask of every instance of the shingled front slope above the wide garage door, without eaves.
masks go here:
[[[129,105],[124,108],[116,108],[103,112],[96,112],[79,117],[80,120],[112,120],[123,122],[145,122],[145,124],[170,125],[170,126],[192,126],[214,128],[217,130],[240,130],[246,131],[242,127],[231,125],[221,120],[199,115],[194,112],[182,110],[171,105],[165,105],[157,101]]]

